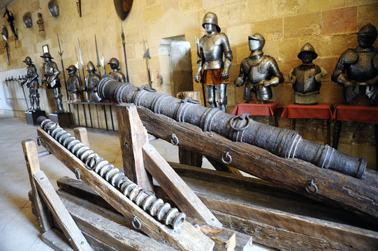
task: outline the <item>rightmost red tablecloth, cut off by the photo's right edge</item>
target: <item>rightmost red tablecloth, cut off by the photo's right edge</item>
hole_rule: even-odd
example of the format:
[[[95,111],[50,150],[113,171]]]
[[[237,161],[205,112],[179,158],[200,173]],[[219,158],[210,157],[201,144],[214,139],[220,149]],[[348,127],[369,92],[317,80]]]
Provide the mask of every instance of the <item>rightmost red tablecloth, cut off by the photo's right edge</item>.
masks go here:
[[[333,113],[333,119],[337,121],[378,123],[378,107],[337,105]]]

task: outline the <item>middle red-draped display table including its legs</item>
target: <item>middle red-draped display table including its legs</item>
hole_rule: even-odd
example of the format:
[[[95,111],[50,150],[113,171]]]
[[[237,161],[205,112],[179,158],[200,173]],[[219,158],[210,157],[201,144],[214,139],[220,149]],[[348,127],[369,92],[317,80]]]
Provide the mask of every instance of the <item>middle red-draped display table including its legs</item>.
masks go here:
[[[291,104],[282,112],[282,119],[291,119],[291,129],[296,130],[296,119],[324,119],[324,144],[330,144],[330,121],[333,119],[332,105],[321,103],[318,105]]]

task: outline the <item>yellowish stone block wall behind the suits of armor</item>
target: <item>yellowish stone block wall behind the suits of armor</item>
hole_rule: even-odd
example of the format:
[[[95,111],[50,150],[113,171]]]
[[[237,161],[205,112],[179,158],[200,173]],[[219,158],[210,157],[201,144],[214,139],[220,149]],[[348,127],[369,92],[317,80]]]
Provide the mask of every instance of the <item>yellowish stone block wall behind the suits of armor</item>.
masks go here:
[[[247,36],[261,33],[266,38],[264,52],[275,57],[279,68],[284,73],[285,82],[274,89],[274,100],[283,106],[293,101],[291,83],[287,80],[289,71],[300,64],[297,54],[306,42],[310,42],[319,57],[314,60],[328,71],[328,77],[322,80],[319,102],[330,102],[334,106],[343,102],[342,88],[330,81],[338,57],[344,50],[356,47],[356,34],[368,22],[378,27],[378,2],[376,0],[136,0],[129,17],[122,22],[115,12],[113,1],[82,1],[82,17],[79,17],[75,1],[58,1],[59,17],[48,13],[48,0],[16,0],[8,9],[15,15],[15,24],[19,40],[15,43],[6,20],[0,15],[0,24],[6,24],[10,32],[10,66],[6,63],[3,40],[0,46],[0,71],[24,67],[22,60],[31,56],[37,68],[41,68],[42,45],[49,45],[50,53],[61,68],[57,53],[57,33],[61,49],[64,51],[65,66],[74,64],[78,59],[78,38],[83,53],[83,61],[91,60],[96,64],[94,34],[97,36],[100,56],[106,61],[113,56],[121,62],[124,71],[124,57],[121,40],[121,25],[126,36],[126,53],[130,81],[137,86],[147,84],[147,71],[143,59],[143,40],[150,47],[150,68],[154,87],[159,92],[168,92],[174,88],[164,86],[169,74],[166,66],[161,65],[159,47],[163,38],[184,36],[191,44],[191,66],[196,69],[196,47],[194,35],[201,37],[203,15],[208,11],[217,13],[221,31],[228,35],[233,50],[233,66],[230,79],[238,76],[240,62],[249,55]],[[2,10],[1,13],[3,13]],[[22,15],[29,11],[33,26],[28,29],[22,23]],[[38,34],[37,13],[42,13],[45,21],[45,38]],[[17,48],[16,48],[17,45]],[[376,43],[378,47],[378,43]],[[75,54],[76,52],[76,54]],[[80,61],[80,60],[79,60]],[[109,72],[110,68],[107,67]],[[165,73],[165,74],[163,74]],[[61,77],[61,80],[62,77]],[[201,84],[193,83],[194,91],[202,91]],[[62,93],[65,93],[62,90]],[[201,94],[202,97],[202,94]],[[242,88],[228,86],[228,109],[232,109],[242,100]],[[54,105],[53,102],[45,105]],[[300,125],[303,123],[303,125]],[[287,121],[279,121],[279,126],[288,126]],[[316,123],[315,123],[316,124]],[[298,131],[305,138],[314,135],[306,130],[312,122],[297,122]],[[320,127],[321,128],[321,127]],[[342,133],[341,143],[358,143],[372,146],[374,134],[372,126],[347,126],[347,135]],[[361,134],[365,130],[368,135]],[[317,135],[321,135],[317,134]],[[362,139],[356,139],[356,137]],[[322,139],[317,139],[321,141]],[[372,151],[368,151],[372,152]]]

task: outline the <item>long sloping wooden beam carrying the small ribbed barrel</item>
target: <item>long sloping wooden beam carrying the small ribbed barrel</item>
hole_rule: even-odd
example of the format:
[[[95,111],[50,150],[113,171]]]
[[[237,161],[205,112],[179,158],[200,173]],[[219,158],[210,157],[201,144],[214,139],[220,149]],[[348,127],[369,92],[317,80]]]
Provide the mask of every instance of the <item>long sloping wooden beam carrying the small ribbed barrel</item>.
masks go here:
[[[166,242],[168,245],[182,250],[212,250],[214,247],[214,241],[210,240],[201,231],[194,229],[188,222],[182,224],[180,231],[175,231],[157,222],[151,215],[145,213],[142,208],[124,197],[121,192],[112,187],[101,176],[94,171],[88,170],[84,163],[65,149],[64,146],[61,146],[47,132],[38,129],[38,135],[42,139],[41,144],[66,165],[68,169],[75,172],[75,169],[79,168],[82,181],[106,199],[119,213],[122,213],[126,218],[138,216],[142,223],[141,230],[151,238]],[[194,242],[193,240],[196,241]]]

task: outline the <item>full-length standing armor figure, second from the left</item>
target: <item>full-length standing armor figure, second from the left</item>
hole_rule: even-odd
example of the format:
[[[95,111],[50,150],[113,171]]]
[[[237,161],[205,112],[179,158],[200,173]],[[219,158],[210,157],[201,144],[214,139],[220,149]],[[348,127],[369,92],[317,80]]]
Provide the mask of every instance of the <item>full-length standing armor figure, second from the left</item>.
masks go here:
[[[43,68],[45,70],[45,75],[42,79],[42,84],[46,82],[48,85],[48,89],[52,89],[52,93],[54,93],[54,100],[55,104],[57,105],[57,113],[63,113],[63,105],[61,104],[61,98],[63,97],[60,93],[60,80],[59,80],[59,70],[57,67],[57,63],[52,61],[52,56],[50,53],[45,52],[41,56],[43,58],[43,61],[45,62]]]

